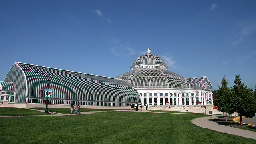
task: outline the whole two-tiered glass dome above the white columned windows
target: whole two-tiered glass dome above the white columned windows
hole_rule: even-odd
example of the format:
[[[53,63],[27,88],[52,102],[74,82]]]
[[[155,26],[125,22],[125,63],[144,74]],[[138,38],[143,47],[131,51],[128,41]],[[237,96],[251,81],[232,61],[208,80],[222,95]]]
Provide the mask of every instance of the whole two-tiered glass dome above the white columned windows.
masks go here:
[[[138,56],[129,72],[120,74],[122,79],[134,88],[180,88],[184,77],[167,70],[166,62],[148,49],[146,54]]]

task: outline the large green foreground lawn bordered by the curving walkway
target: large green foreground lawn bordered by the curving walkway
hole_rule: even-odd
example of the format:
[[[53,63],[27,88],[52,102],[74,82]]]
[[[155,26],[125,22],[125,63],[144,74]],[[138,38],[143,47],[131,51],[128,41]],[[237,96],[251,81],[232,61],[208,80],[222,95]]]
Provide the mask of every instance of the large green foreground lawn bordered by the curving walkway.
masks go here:
[[[2,117],[0,143],[255,144],[256,140],[200,128],[205,115],[106,111],[71,116]]]

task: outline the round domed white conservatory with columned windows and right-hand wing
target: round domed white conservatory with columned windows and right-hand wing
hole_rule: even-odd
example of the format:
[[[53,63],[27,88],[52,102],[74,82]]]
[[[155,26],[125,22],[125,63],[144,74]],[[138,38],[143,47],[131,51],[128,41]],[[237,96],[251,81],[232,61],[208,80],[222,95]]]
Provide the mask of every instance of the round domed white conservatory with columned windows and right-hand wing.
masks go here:
[[[143,104],[160,105],[212,105],[212,84],[206,76],[184,78],[171,72],[166,62],[148,51],[138,56],[130,71],[116,78],[133,86]]]

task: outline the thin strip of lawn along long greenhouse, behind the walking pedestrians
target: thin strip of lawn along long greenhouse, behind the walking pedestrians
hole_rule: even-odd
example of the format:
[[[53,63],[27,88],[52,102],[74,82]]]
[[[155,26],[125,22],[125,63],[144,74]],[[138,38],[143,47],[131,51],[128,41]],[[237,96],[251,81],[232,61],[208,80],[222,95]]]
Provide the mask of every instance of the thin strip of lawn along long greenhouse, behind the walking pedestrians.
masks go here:
[[[45,110],[45,108],[31,108],[37,110]],[[113,111],[115,109],[90,109],[90,108],[80,108],[80,112],[94,112],[94,111]],[[58,112],[61,114],[69,114],[70,108],[48,108],[49,112]],[[74,110],[75,112],[75,110]]]

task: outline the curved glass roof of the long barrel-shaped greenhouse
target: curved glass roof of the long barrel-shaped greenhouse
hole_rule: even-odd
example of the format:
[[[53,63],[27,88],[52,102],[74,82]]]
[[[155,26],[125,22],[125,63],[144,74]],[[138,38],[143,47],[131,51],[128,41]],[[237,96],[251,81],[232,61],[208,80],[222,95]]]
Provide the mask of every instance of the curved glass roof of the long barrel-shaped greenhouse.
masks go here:
[[[16,102],[25,102],[26,98],[44,98],[48,79],[55,100],[117,102],[122,106],[140,102],[138,92],[120,79],[20,62],[15,62],[4,81],[16,86]]]

